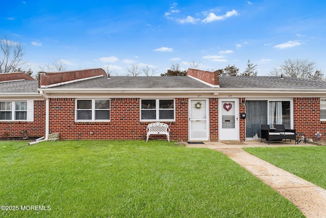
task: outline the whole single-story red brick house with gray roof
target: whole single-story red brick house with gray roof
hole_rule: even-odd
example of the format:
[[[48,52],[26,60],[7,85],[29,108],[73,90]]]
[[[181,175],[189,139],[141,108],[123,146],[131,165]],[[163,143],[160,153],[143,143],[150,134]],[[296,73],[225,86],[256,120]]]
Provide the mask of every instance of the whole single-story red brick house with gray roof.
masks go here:
[[[310,138],[326,133],[324,81],[196,69],[186,77],[107,77],[100,68],[41,72],[38,81],[1,76],[0,133],[12,136],[23,128],[63,140],[144,139],[152,122],[167,123],[171,140],[243,141],[274,123]]]

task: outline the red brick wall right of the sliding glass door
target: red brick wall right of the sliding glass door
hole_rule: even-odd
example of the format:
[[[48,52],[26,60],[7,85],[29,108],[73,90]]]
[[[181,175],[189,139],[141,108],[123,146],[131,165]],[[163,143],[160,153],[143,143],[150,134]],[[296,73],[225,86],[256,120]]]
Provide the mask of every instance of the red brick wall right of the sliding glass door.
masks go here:
[[[326,123],[320,122],[319,98],[293,99],[294,129],[305,133],[306,137],[316,139],[316,133],[321,133],[321,139],[326,139]]]

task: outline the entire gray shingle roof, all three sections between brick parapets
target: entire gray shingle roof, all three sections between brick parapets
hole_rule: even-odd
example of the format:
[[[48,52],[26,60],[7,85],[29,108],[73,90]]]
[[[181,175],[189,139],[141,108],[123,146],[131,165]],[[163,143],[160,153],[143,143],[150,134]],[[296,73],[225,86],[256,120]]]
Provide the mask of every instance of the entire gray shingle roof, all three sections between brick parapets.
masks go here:
[[[326,81],[316,81],[298,78],[285,77],[220,77],[221,88],[273,88],[276,90],[282,89],[326,89]],[[37,94],[38,81],[13,81],[0,83],[0,93],[35,93]],[[84,81],[78,81],[65,85],[55,86],[52,88],[58,89],[173,89],[173,88],[189,88],[189,89],[201,89],[211,88],[218,90],[219,88],[213,88],[200,81],[192,79],[190,77],[99,77]]]

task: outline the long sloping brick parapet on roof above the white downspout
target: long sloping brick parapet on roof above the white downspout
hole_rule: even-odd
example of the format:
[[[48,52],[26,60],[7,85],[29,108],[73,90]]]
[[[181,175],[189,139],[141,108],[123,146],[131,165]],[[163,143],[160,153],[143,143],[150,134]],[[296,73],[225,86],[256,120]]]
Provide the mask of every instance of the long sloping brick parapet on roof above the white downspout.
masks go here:
[[[48,87],[50,85],[70,82],[74,80],[82,80],[97,76],[106,77],[107,75],[105,74],[105,71],[102,68],[60,72],[39,72],[39,87]]]

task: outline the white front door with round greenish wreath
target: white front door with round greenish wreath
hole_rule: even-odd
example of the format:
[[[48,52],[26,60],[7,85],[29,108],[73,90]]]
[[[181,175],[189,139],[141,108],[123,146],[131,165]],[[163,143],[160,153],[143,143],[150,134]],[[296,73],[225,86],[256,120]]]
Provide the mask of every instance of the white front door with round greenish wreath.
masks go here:
[[[208,99],[189,99],[189,140],[209,140]]]

